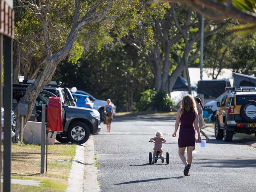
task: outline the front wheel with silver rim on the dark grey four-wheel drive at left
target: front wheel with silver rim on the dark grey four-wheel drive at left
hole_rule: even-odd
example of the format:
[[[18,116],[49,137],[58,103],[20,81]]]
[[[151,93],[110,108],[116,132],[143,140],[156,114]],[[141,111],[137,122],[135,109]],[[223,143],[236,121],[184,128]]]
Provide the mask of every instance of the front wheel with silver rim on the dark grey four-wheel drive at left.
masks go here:
[[[71,143],[83,144],[90,137],[89,127],[80,121],[77,121],[68,128],[68,139]]]

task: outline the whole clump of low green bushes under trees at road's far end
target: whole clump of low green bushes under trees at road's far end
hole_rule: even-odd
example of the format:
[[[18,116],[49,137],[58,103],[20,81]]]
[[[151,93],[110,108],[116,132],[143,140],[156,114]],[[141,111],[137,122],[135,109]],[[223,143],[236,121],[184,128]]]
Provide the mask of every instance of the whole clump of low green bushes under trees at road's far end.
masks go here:
[[[175,102],[171,99],[171,96],[164,91],[156,93],[154,89],[148,89],[140,94],[142,96],[137,104],[139,111],[151,109],[169,112],[174,110]]]

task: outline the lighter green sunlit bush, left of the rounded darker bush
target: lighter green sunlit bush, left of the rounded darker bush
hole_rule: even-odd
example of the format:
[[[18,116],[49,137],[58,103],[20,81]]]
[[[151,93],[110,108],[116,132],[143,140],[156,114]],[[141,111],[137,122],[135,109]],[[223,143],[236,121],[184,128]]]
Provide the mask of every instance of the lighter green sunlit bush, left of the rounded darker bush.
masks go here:
[[[150,108],[152,100],[156,97],[156,91],[154,89],[148,89],[144,92],[141,92],[140,101],[137,103],[137,109],[139,111],[146,111]]]

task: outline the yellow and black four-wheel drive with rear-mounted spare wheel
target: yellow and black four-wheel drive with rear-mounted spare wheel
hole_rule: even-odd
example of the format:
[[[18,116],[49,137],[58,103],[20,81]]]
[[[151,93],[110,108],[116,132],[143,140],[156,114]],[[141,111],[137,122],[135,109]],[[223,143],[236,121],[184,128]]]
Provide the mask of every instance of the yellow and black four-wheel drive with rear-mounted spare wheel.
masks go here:
[[[215,115],[215,138],[231,142],[233,134],[256,136],[256,88],[227,87]]]

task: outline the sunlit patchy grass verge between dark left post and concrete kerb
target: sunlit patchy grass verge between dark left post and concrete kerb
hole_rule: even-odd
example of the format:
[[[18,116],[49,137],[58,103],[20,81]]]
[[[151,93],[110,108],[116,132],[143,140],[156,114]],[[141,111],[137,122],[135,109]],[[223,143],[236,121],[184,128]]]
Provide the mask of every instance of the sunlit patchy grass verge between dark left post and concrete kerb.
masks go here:
[[[40,174],[41,146],[32,144],[12,144],[12,179],[38,180],[40,186],[12,185],[12,191],[66,191],[68,175],[76,154],[76,145],[48,145],[48,171]]]

